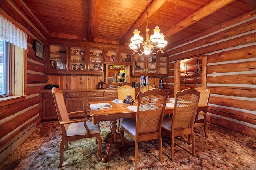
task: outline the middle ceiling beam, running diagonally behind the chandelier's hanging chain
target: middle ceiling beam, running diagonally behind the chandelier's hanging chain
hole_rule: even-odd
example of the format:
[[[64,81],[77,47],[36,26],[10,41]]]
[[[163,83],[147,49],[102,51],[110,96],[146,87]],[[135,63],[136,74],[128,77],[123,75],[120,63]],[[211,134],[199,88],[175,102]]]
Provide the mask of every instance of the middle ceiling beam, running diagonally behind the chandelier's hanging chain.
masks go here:
[[[148,18],[152,16],[163,4],[166,0],[153,0],[151,4],[148,6]],[[124,45],[126,42],[130,41],[132,37],[133,31],[136,28],[140,28],[143,23],[146,22],[147,18],[147,10],[143,12],[143,14],[138,18],[138,20],[132,25],[132,27],[127,31],[124,37],[120,40],[120,45]]]

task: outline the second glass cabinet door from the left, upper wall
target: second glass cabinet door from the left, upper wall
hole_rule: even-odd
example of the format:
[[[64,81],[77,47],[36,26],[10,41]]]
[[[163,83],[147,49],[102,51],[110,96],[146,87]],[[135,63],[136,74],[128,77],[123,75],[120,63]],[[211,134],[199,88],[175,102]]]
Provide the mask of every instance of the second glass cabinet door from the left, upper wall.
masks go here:
[[[86,72],[86,57],[84,47],[70,47],[70,68],[72,72]]]

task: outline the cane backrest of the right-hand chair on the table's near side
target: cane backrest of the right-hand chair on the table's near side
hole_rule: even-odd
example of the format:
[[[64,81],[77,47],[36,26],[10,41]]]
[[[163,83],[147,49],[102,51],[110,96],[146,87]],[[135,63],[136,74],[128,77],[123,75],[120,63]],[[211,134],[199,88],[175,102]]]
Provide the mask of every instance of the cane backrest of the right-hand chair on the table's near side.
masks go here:
[[[172,131],[175,129],[193,128],[200,92],[188,88],[176,93],[172,115]]]

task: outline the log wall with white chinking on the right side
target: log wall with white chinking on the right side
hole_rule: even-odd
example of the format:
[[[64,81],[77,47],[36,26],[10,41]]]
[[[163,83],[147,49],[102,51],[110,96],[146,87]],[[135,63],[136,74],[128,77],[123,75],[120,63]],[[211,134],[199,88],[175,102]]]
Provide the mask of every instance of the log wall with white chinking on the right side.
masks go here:
[[[253,138],[256,138],[255,28],[256,10],[253,10],[182,42],[170,49],[169,56],[169,71],[174,72],[177,61],[201,55],[202,84],[211,90],[208,122]],[[173,80],[170,84],[176,79],[178,76],[173,79],[170,76]]]

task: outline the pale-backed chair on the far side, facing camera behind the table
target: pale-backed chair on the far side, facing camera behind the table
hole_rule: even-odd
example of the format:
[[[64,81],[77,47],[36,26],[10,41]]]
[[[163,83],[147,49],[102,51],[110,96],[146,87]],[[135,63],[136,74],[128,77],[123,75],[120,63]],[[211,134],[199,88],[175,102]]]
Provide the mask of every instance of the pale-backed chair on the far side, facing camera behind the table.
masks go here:
[[[121,87],[118,87],[117,88],[117,98],[118,100],[124,100],[124,98],[127,97],[127,94],[131,94],[132,95],[132,98],[135,100],[135,88],[134,87],[131,87],[131,86],[127,86],[127,85],[124,85],[124,86],[121,86]],[[117,131],[119,131],[119,127],[120,127],[120,121],[126,121],[126,120],[132,120],[134,118],[121,118],[121,119],[118,119],[117,120]]]

